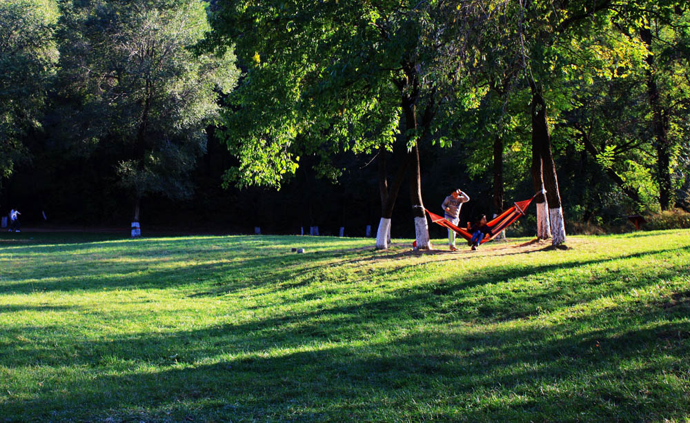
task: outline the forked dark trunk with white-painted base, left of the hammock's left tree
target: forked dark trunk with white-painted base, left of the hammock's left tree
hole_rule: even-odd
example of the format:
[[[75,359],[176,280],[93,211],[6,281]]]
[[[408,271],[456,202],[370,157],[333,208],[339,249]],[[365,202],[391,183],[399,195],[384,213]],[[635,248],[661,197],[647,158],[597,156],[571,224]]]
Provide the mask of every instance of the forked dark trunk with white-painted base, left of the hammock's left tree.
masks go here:
[[[388,187],[388,170],[386,169],[386,148],[380,146],[379,148],[379,194],[381,197],[381,220],[379,221],[379,228],[376,232],[376,248],[380,250],[388,249],[391,244],[391,218],[393,217],[393,207],[397,194],[400,192],[400,186],[405,178],[405,171],[408,166],[408,156],[406,155],[402,163],[397,168],[397,173],[393,179],[393,184]]]

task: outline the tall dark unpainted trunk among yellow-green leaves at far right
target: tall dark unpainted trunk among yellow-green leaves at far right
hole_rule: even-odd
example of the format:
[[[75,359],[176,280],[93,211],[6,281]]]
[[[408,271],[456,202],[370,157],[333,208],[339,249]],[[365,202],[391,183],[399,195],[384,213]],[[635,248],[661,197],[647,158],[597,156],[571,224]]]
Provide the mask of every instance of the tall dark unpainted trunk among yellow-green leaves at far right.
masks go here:
[[[649,28],[640,30],[640,38],[651,50],[652,34]],[[655,138],[655,150],[657,155],[656,179],[659,184],[659,204],[662,210],[669,210],[671,206],[671,143],[669,141],[669,119],[664,111],[656,85],[654,72],[654,56],[648,55],[645,59],[647,68],[647,98],[652,112],[652,126]]]

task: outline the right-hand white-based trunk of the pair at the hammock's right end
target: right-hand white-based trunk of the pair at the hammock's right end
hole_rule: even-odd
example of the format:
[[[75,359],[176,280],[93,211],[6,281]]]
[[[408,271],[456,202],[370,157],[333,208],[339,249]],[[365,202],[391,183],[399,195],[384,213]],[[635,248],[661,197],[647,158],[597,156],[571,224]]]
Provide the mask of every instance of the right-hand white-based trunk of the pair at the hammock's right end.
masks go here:
[[[549,122],[546,120],[546,102],[542,97],[541,88],[537,87],[533,80],[530,81],[530,86],[532,89],[532,154],[534,155],[536,149],[541,159],[542,181],[549,207],[551,242],[558,246],[565,242],[565,222],[558,190],[558,176],[553,163],[553,153],[551,153],[551,134]]]

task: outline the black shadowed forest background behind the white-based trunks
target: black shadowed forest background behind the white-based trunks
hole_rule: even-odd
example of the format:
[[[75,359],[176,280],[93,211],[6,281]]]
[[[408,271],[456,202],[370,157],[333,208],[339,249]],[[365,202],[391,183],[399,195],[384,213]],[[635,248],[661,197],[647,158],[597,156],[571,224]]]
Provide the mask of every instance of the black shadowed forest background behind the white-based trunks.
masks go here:
[[[222,175],[236,164],[236,160],[226,146],[213,137],[212,128],[209,134],[208,151],[193,172],[192,197],[184,200],[172,200],[164,195],[145,197],[141,217],[145,232],[148,229],[254,233],[255,226],[259,226],[262,233],[297,234],[301,227],[308,232],[309,226],[319,226],[322,235],[338,235],[339,228],[344,226],[346,236],[362,237],[366,226],[371,225],[375,235],[381,206],[373,155],[337,157],[337,164],[346,170],[336,183],[316,177],[315,170],[307,162],[280,190],[222,188]],[[27,140],[28,148],[37,153],[21,161],[12,177],[3,180],[3,212],[14,205],[21,211],[26,227],[119,227],[127,231],[132,201],[129,193],[117,186],[115,166],[107,157],[100,160],[99,157],[68,157],[56,161],[55,157],[63,156],[63,151],[51,146],[48,139],[49,135],[37,134]],[[461,222],[479,213],[491,215],[495,212],[491,172],[477,177],[468,174],[466,153],[469,148],[473,146],[458,142],[452,148],[426,148],[421,155],[424,204],[440,213],[438,210],[446,195],[461,188],[471,197],[462,209]],[[582,228],[577,223],[586,222],[584,213],[589,213],[594,223],[630,229],[625,223],[626,215],[635,210],[620,205],[625,204],[620,194],[586,197],[587,191],[615,193],[615,187],[605,175],[597,172],[598,166],[587,166],[591,159],[585,154],[573,160],[565,156],[568,153],[564,151],[556,159],[560,165],[559,179],[564,181],[562,196],[569,229]],[[509,181],[506,204],[510,204],[511,199],[517,201],[532,195],[528,176],[526,173],[515,175],[517,179]],[[412,214],[405,187],[406,184],[395,206],[394,237],[414,235],[414,228],[409,224]],[[588,204],[588,201],[591,202]],[[47,222],[43,219],[43,211]],[[517,222],[512,232],[533,235],[531,226],[534,226],[533,219],[526,217]],[[443,228],[431,227],[430,230],[436,237],[445,235]]]

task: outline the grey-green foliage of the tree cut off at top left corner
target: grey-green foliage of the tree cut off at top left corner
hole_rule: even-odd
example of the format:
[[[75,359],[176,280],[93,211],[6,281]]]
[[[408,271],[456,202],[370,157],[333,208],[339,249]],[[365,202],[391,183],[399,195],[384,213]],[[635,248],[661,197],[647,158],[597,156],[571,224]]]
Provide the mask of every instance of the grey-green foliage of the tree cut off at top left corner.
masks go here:
[[[57,10],[48,0],[0,2],[0,176],[26,157],[22,137],[39,128],[55,70]]]

